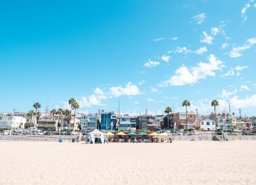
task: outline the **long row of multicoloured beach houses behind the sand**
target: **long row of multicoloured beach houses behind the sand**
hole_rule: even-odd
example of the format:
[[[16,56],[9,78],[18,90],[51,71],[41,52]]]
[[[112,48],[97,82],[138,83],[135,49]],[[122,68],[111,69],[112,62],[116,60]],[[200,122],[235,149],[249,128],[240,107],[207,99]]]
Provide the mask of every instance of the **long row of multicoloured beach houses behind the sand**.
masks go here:
[[[79,114],[72,115],[71,120],[67,120],[65,116],[42,113],[40,118],[28,117],[26,113],[2,113],[0,114],[0,129],[16,130],[24,128],[26,122],[32,122],[39,130],[149,130],[158,129],[175,129],[185,130],[192,128],[194,130],[214,131],[216,129],[234,130],[234,131],[254,131],[256,130],[256,117],[241,116],[235,117],[226,110],[214,112],[210,115],[195,115],[194,112],[186,113],[170,113],[169,115],[117,115],[112,112],[104,112],[100,114]],[[187,123],[187,124],[186,124]]]

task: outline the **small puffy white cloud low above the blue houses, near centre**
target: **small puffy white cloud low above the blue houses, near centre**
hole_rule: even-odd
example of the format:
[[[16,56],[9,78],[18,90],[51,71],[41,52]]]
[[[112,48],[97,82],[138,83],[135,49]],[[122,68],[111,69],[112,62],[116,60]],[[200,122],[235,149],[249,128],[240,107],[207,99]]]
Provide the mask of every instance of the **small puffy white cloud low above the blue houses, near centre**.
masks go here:
[[[131,85],[131,82],[125,85],[125,87],[117,86],[117,87],[110,87],[110,93],[114,97],[118,97],[121,95],[132,96],[132,95],[140,95],[141,91],[136,85]]]

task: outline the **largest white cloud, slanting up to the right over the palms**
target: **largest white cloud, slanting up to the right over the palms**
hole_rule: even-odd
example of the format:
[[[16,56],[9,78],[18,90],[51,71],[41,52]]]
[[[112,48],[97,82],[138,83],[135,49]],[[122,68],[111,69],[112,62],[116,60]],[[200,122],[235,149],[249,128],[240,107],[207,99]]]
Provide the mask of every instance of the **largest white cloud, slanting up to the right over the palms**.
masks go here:
[[[196,67],[188,68],[182,65],[175,71],[175,76],[158,85],[163,87],[168,85],[194,84],[200,79],[206,79],[208,76],[214,77],[214,70],[221,70],[223,67],[226,67],[223,65],[223,62],[217,60],[213,54],[210,54],[208,60],[209,63],[200,62]]]

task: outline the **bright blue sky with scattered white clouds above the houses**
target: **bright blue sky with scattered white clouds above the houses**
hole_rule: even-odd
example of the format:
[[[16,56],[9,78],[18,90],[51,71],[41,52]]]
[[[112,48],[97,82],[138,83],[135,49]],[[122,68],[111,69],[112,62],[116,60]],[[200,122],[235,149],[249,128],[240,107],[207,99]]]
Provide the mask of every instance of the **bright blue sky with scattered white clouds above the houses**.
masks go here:
[[[256,110],[256,1],[8,1],[0,7],[0,112]]]

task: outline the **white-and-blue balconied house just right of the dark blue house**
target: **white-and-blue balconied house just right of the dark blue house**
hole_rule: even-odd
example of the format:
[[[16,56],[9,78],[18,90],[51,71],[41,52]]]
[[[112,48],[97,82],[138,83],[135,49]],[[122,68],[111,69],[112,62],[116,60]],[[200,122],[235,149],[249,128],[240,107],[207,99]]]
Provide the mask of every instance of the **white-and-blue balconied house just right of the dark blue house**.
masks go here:
[[[121,116],[119,119],[118,131],[120,130],[136,130],[136,117],[135,116]]]

